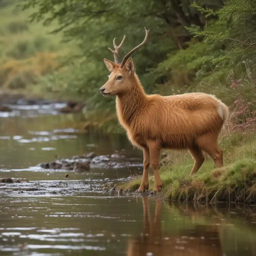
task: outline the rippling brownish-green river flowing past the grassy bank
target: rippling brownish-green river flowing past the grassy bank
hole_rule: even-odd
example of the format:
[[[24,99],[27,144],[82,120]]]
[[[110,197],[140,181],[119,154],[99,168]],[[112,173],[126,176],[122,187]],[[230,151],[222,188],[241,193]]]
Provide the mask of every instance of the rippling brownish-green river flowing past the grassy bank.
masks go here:
[[[256,255],[253,207],[103,190],[141,174],[142,152],[122,135],[78,133],[60,107],[0,113],[0,177],[21,181],[0,183],[0,255]],[[125,157],[85,173],[36,167],[89,152]]]

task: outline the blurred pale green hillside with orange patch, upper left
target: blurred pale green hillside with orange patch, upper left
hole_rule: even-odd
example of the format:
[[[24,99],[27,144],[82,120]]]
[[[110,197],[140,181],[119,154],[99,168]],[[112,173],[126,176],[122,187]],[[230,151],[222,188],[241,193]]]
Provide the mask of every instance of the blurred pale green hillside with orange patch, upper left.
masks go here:
[[[29,23],[31,11],[22,11],[16,7],[17,2],[9,1],[0,9],[0,84],[4,89],[33,94],[36,90],[40,92],[35,86],[38,80],[60,70],[61,57],[71,56],[77,47],[60,44],[61,33],[50,35],[54,24],[47,28],[40,23]]]

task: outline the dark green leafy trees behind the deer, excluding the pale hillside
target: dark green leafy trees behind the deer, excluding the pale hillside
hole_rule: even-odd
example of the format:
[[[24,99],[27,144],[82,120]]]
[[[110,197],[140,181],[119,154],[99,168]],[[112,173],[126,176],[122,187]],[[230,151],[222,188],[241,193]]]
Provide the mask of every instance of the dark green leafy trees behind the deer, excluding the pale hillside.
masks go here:
[[[31,22],[48,26],[57,21],[59,26],[52,33],[62,31],[64,41],[81,49],[68,59],[67,72],[41,83],[53,91],[83,95],[89,109],[103,116],[114,113],[114,101],[99,93],[109,74],[103,58],[113,61],[107,48],[113,48],[114,38],[119,43],[126,35],[119,54],[122,59],[143,41],[144,27],[150,29],[148,41],[132,58],[147,93],[221,91],[230,70],[253,78],[256,0],[26,0],[20,5],[33,9]],[[211,89],[200,86],[205,83]],[[102,120],[95,119],[98,125],[106,123],[97,116]]]

